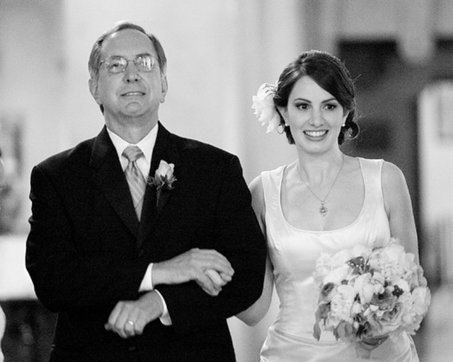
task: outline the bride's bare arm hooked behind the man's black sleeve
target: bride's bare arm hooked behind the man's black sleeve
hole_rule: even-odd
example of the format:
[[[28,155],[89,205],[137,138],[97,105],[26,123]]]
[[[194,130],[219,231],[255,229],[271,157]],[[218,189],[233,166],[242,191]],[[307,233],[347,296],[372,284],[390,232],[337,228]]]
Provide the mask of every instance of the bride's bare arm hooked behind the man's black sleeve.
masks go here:
[[[261,182],[261,176],[256,177],[250,184],[250,191],[252,194],[252,206],[255,211],[258,223],[260,223],[263,234],[266,235],[265,228],[265,202],[264,202],[264,191],[263,184]],[[256,302],[251,305],[248,309],[236,315],[240,320],[245,322],[247,325],[256,325],[263,317],[268,313],[270,302],[272,300],[274,286],[274,274],[272,262],[268,257],[266,262],[266,271],[263,284],[263,293]]]

